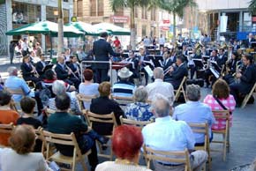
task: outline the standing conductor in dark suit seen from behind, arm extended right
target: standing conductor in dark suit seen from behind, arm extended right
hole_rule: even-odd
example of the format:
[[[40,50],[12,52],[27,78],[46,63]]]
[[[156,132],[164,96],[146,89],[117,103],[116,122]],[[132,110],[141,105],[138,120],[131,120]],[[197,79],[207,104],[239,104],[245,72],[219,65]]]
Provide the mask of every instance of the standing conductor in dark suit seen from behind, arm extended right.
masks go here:
[[[101,33],[101,38],[98,41],[94,41],[93,53],[95,61],[109,61],[109,55],[120,56],[113,51],[109,42],[107,42],[108,33]],[[108,71],[109,63],[95,63],[95,71],[97,75],[96,82],[102,83],[103,81],[109,81]]]

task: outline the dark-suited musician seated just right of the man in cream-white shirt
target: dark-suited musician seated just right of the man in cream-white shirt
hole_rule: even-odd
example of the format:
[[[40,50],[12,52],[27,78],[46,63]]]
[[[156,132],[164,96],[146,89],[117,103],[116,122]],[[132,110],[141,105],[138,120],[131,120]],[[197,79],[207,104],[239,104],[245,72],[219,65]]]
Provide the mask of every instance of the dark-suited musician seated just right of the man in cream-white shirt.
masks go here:
[[[186,63],[184,63],[184,56],[177,56],[176,61],[177,67],[170,67],[169,78],[164,81],[169,82],[173,85],[173,88],[177,90],[178,86],[181,84],[182,79],[188,75]]]

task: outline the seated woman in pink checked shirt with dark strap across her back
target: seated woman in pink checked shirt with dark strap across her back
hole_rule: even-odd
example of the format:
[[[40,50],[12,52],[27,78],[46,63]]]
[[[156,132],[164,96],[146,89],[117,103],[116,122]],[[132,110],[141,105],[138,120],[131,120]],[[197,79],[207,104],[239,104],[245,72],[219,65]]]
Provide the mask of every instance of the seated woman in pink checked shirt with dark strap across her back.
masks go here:
[[[236,100],[230,94],[229,85],[223,80],[218,79],[213,85],[213,94],[208,94],[204,99],[204,103],[210,106],[212,110],[230,110],[230,113],[236,108]],[[222,105],[221,105],[222,103]],[[223,108],[223,107],[225,108]],[[233,115],[230,115],[230,126],[232,126]],[[226,128],[224,119],[215,119],[212,130],[223,130]]]

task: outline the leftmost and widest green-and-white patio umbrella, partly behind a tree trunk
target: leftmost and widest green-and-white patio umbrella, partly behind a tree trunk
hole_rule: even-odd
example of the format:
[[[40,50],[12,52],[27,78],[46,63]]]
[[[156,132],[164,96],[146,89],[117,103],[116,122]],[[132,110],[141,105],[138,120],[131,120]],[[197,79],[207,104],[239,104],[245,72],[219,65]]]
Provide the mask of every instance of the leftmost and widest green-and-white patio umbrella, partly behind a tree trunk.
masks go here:
[[[25,26],[20,26],[19,28],[15,28],[6,32],[6,35],[20,35],[20,34],[49,34],[51,36],[57,36],[58,25],[54,22],[50,21],[41,21],[32,24],[28,24]],[[64,26],[64,37],[78,37],[82,35],[82,32],[79,32],[75,27],[65,27]]]

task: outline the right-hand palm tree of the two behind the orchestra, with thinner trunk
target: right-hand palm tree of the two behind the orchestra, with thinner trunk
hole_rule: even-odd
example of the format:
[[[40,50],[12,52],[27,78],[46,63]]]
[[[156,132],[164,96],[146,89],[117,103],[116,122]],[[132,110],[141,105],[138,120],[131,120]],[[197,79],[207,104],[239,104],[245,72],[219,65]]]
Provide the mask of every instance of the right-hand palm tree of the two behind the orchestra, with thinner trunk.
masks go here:
[[[197,6],[197,4],[194,0],[163,0],[162,4],[160,4],[163,10],[173,14],[173,42],[176,39],[176,16],[182,18],[184,8],[187,6]]]

